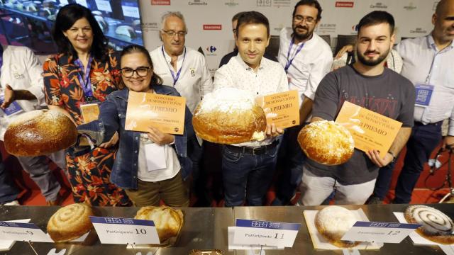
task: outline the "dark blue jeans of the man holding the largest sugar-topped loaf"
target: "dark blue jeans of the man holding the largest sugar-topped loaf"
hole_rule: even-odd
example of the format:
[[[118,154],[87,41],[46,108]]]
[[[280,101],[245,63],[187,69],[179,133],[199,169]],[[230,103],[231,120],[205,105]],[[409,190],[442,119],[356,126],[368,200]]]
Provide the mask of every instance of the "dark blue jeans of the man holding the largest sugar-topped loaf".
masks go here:
[[[243,147],[239,147],[243,148]],[[222,174],[226,207],[263,205],[277,162],[278,146],[262,154],[238,152],[232,146],[222,148]]]

